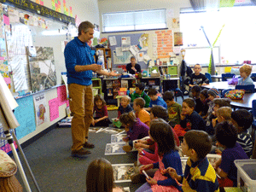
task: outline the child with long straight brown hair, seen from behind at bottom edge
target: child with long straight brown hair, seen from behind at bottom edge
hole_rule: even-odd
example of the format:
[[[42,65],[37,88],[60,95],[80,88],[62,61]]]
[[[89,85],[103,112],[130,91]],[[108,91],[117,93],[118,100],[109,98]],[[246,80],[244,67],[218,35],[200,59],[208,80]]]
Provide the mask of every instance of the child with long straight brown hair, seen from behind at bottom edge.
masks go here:
[[[113,166],[104,158],[97,158],[90,162],[86,176],[87,192],[122,192],[115,186],[113,180]]]

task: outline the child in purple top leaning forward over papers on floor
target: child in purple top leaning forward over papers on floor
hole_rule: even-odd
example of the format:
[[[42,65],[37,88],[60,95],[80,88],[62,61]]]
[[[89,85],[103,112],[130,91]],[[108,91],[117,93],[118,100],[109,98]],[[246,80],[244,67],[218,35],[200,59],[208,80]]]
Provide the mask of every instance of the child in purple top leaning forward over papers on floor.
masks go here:
[[[122,125],[125,127],[127,136],[123,138],[124,142],[128,142],[123,149],[125,152],[130,152],[133,148],[133,141],[137,139],[142,139],[148,136],[148,125],[144,124],[140,119],[136,118],[135,113],[132,111],[130,113],[123,113],[119,118]]]

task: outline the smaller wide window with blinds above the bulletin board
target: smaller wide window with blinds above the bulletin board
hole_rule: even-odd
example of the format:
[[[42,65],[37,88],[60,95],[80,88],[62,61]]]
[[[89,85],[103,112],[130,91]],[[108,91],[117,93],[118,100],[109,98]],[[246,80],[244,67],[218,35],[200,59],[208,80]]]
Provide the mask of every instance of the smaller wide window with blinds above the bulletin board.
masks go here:
[[[102,14],[103,32],[166,28],[166,9]]]

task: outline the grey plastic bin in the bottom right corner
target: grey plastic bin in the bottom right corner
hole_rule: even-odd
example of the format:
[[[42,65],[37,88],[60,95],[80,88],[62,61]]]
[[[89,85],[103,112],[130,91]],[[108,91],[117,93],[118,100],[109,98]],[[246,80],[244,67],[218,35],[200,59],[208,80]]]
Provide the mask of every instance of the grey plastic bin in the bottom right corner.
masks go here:
[[[235,160],[237,187],[243,192],[256,192],[256,160]]]

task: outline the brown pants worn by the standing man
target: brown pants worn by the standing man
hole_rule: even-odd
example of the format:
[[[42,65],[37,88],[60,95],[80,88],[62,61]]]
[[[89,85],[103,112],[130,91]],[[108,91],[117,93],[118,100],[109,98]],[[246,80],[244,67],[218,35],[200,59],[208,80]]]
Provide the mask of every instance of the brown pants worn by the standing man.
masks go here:
[[[73,146],[76,151],[88,141],[90,123],[93,116],[92,85],[68,84],[70,110],[73,113],[71,123]]]

